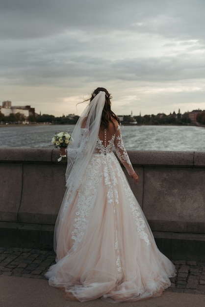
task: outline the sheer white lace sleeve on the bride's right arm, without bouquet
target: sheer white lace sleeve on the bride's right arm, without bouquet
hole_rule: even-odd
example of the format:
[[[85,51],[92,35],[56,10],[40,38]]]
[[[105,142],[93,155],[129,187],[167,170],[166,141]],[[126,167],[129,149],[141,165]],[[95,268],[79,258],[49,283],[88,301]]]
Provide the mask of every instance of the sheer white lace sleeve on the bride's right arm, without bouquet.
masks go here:
[[[132,167],[131,162],[129,160],[129,156],[128,156],[128,153],[125,149],[124,143],[123,143],[123,139],[122,139],[122,135],[121,135],[121,131],[120,131],[120,126],[118,126],[117,130],[116,130],[114,145],[115,145],[115,150],[116,150],[117,156],[120,159],[120,161],[123,163],[125,168],[127,169],[128,174],[130,176],[133,175],[134,170],[133,170],[133,167]]]

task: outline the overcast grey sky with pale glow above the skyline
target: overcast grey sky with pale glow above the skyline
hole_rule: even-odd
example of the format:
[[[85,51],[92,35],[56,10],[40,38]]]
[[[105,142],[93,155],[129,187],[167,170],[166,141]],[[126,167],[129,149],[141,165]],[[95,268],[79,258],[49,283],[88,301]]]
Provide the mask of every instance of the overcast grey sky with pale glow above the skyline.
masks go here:
[[[205,109],[205,0],[0,0],[0,104],[118,115]]]

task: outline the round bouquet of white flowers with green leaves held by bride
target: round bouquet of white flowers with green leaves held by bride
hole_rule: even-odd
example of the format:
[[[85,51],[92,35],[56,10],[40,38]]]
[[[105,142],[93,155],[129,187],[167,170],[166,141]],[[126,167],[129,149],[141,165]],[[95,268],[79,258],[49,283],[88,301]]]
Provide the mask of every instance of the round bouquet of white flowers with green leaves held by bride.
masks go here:
[[[69,144],[73,144],[73,138],[70,133],[68,132],[59,132],[55,133],[53,136],[51,143],[55,146],[55,148],[67,148]],[[59,161],[67,161],[67,155],[66,154],[60,154],[60,157],[58,158]]]

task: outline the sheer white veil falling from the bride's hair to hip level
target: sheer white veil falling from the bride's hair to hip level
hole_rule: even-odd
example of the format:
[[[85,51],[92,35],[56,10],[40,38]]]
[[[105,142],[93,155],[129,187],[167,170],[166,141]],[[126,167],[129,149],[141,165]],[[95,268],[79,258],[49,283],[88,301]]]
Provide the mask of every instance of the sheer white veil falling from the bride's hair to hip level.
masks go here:
[[[95,151],[103,107],[105,92],[100,91],[87,105],[79,117],[73,130],[73,144],[68,146],[68,164],[66,169],[66,186],[77,189],[82,175]]]

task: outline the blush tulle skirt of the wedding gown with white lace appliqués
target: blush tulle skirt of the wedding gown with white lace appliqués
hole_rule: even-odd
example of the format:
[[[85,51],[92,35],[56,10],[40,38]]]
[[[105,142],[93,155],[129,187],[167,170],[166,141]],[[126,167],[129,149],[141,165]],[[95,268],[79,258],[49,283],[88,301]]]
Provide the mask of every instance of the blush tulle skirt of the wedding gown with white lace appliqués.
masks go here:
[[[175,276],[114,153],[94,154],[77,189],[67,189],[55,226],[52,286],[80,302],[159,296]]]

